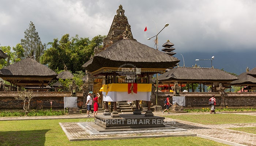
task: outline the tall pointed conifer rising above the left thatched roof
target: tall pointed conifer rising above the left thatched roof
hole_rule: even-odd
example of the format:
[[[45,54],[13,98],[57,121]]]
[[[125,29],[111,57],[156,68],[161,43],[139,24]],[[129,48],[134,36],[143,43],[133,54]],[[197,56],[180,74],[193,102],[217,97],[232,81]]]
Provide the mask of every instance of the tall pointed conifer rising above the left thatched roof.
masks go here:
[[[45,44],[42,45],[38,32],[35,30],[35,25],[30,21],[29,29],[24,32],[24,39],[20,40],[20,44],[23,46],[26,57],[34,57],[39,62],[41,55],[44,53]]]

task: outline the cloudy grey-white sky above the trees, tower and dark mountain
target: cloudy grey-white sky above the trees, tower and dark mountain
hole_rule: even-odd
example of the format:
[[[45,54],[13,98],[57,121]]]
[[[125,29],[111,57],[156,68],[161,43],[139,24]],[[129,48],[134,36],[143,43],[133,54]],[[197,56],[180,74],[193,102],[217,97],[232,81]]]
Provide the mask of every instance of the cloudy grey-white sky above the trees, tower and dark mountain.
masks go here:
[[[42,43],[64,34],[107,35],[123,5],[133,37],[159,49],[167,39],[176,52],[255,50],[255,0],[1,0],[0,44],[15,46],[32,21]],[[147,31],[144,32],[144,28]]]

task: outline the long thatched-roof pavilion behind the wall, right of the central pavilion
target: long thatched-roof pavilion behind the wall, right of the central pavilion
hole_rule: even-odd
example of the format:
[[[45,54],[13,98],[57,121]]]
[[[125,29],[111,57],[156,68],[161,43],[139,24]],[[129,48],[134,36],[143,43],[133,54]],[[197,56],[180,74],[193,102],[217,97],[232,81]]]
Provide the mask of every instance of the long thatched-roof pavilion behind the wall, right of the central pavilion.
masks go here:
[[[200,67],[177,67],[161,74],[158,78],[160,82],[166,84],[178,82],[180,87],[182,84],[192,84],[192,92],[194,92],[193,84],[200,84],[200,92],[205,92],[204,85],[211,86],[212,92],[216,92],[220,83],[225,88],[230,88],[230,82],[237,79],[236,76],[220,69]]]

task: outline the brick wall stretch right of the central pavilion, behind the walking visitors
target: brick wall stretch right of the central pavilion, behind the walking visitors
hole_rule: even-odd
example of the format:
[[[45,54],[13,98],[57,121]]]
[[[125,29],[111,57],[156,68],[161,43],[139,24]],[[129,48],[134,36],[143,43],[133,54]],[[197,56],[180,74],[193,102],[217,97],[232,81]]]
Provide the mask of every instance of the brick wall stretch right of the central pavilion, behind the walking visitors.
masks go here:
[[[185,96],[185,107],[202,108],[209,107],[208,100],[215,94],[217,107],[256,107],[256,92],[233,93],[225,92],[223,100],[219,92],[185,92],[180,96]],[[158,92],[158,105],[164,105],[167,95],[170,95],[172,101],[172,92]],[[155,104],[155,93],[152,94],[153,103]],[[171,102],[172,103],[172,102]]]

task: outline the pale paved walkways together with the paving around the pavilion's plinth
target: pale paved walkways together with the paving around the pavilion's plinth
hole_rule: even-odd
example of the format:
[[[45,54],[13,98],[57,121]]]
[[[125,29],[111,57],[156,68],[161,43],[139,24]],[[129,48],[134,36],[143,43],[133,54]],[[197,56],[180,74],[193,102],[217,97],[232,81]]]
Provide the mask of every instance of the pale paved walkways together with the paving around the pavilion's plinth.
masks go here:
[[[102,113],[99,113],[102,114]],[[168,115],[194,115],[194,114],[208,114],[208,113],[172,113]],[[228,113],[223,113],[228,114]],[[256,116],[256,112],[232,112],[231,114],[244,114]],[[162,112],[154,112],[154,115],[162,116]],[[65,115],[65,116],[31,116],[31,117],[0,117],[1,120],[32,120],[32,119],[69,119],[69,118],[87,118],[86,115]],[[234,124],[214,124],[203,125],[197,123],[186,122],[182,120],[174,120],[166,118],[167,121],[174,121],[169,123],[169,126],[174,126],[187,131],[173,131],[166,134],[166,132],[146,132],[146,133],[123,133],[123,134],[104,134],[91,135],[88,131],[79,126],[77,122],[60,123],[62,127],[66,127],[64,132],[76,140],[104,140],[104,139],[130,139],[130,138],[144,138],[144,137],[178,137],[178,136],[198,136],[202,138],[211,139],[217,142],[225,143],[234,146],[256,146],[256,134],[229,130],[230,127],[256,127],[256,123],[234,123]],[[86,121],[80,121],[86,122]]]

